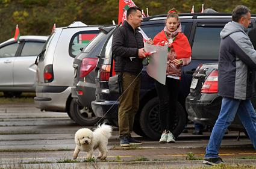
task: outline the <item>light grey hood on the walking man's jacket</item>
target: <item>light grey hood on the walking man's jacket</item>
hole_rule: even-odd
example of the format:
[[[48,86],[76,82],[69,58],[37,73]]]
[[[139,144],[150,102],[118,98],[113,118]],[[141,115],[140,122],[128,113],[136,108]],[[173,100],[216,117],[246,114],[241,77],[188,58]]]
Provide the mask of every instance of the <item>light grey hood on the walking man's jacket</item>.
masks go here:
[[[220,32],[220,38],[225,38],[230,34],[233,34],[234,32],[248,32],[248,29],[245,28],[245,26],[241,25],[240,23],[237,22],[228,22]]]

